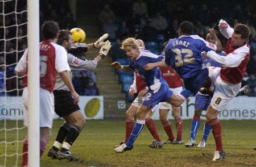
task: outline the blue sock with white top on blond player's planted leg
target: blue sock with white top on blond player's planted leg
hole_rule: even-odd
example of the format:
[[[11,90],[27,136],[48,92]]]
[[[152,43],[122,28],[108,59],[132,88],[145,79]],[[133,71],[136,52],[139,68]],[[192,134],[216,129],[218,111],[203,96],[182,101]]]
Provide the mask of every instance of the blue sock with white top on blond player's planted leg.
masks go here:
[[[137,120],[136,124],[133,128],[133,131],[131,131],[131,135],[128,139],[128,141],[125,143],[127,147],[132,147],[134,141],[136,140],[137,136],[139,136],[139,133],[141,133],[143,127],[145,124],[145,120]]]

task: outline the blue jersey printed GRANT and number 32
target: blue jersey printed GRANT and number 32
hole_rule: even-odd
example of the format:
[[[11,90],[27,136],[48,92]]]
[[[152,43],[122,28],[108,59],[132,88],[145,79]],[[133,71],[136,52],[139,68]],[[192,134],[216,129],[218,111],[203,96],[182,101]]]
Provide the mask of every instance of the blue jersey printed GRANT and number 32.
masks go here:
[[[216,51],[216,49],[216,45],[197,35],[182,35],[168,41],[165,62],[172,66],[181,78],[191,78],[199,74],[202,69],[201,52]]]

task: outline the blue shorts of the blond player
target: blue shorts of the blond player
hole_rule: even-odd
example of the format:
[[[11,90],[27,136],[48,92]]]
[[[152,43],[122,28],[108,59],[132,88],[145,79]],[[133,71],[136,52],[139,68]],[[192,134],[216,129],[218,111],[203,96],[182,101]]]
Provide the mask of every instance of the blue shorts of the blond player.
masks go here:
[[[160,89],[154,93],[152,90],[148,90],[148,93],[145,95],[145,98],[142,101],[142,105],[154,107],[159,102],[165,102],[169,99],[174,92],[170,89],[166,82],[161,83]]]

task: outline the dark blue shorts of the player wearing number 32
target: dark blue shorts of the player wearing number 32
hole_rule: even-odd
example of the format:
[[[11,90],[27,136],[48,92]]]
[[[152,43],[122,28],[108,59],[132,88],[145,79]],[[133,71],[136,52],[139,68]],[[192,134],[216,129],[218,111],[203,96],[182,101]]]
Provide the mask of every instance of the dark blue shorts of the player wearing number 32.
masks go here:
[[[203,86],[205,79],[208,77],[208,73],[207,68],[204,68],[195,76],[183,79],[185,85],[184,88],[191,91],[191,93],[196,94]]]

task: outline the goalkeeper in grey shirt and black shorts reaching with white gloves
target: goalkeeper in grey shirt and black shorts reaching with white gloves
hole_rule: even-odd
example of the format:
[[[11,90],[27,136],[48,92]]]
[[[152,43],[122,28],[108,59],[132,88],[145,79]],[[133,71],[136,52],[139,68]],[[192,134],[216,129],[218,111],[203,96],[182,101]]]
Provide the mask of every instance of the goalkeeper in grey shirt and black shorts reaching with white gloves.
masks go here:
[[[108,36],[108,34],[101,36],[100,39],[93,44],[72,44],[73,37],[71,32],[68,30],[60,30],[57,44],[62,45],[68,51],[68,64],[71,69],[93,70],[96,68],[98,62],[108,55],[109,49],[112,47],[109,41],[104,41]],[[81,60],[69,53],[69,51],[72,51],[72,53],[79,55],[80,53],[93,48],[93,46],[95,48],[101,48],[99,55],[97,55],[94,60]],[[69,74],[69,77],[72,78],[72,73]],[[73,97],[68,87],[64,85],[63,80],[61,80],[58,74],[56,78],[57,80],[53,91],[55,98],[55,112],[60,117],[64,118],[65,122],[59,128],[55,142],[47,156],[59,158],[59,160],[69,159],[71,161],[76,161],[79,160],[79,158],[72,155],[69,150],[77,139],[77,136],[79,136],[82,128],[85,126],[85,118],[84,115],[82,115],[79,105],[73,103]]]

